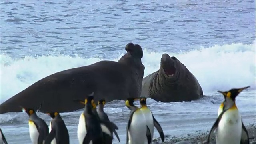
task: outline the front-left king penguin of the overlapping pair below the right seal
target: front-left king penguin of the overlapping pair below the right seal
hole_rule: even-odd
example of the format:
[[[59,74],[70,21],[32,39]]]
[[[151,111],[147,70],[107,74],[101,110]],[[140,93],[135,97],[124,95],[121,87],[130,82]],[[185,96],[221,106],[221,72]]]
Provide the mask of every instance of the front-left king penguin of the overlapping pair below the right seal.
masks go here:
[[[139,98],[127,98],[125,101],[126,107],[131,110],[126,127],[126,144],[151,144],[152,138],[144,114],[134,106],[134,100]]]

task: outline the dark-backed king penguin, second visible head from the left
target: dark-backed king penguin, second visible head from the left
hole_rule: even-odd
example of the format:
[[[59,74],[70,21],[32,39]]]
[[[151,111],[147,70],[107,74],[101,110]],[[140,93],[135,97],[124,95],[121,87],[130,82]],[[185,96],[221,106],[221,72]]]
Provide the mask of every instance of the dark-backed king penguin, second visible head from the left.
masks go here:
[[[45,144],[69,144],[68,129],[64,120],[58,112],[47,113],[52,120],[49,126],[49,134],[45,139]]]

